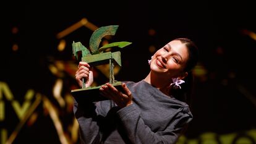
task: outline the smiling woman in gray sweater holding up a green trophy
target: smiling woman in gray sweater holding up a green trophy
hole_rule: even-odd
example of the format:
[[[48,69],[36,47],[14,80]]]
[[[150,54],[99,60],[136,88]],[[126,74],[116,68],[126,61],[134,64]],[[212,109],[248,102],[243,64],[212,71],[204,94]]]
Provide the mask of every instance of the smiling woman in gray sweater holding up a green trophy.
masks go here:
[[[192,120],[187,100],[197,59],[197,46],[177,38],[156,51],[148,61],[150,73],[140,82],[124,82],[122,91],[106,83],[100,88],[106,101],[75,101],[81,143],[175,143]],[[75,78],[80,87],[82,78],[86,87],[92,85],[87,62],[79,63]]]

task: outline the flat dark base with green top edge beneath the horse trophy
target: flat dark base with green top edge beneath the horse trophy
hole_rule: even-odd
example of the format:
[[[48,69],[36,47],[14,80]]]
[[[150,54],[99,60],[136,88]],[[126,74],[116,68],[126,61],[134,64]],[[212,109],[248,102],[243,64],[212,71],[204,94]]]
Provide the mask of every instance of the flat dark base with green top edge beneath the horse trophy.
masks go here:
[[[111,84],[116,87],[117,90],[122,90],[122,82],[115,82]],[[90,103],[108,100],[108,98],[100,95],[100,87],[101,86],[75,89],[71,90],[71,94],[77,103]]]

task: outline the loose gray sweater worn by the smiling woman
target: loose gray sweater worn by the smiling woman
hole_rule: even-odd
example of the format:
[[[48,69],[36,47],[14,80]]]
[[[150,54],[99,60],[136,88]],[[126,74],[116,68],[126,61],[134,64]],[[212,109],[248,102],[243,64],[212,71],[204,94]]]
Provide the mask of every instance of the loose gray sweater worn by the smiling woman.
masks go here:
[[[192,120],[189,106],[164,95],[149,83],[125,82],[133,104],[120,109],[111,100],[79,104],[74,114],[81,143],[175,143]]]

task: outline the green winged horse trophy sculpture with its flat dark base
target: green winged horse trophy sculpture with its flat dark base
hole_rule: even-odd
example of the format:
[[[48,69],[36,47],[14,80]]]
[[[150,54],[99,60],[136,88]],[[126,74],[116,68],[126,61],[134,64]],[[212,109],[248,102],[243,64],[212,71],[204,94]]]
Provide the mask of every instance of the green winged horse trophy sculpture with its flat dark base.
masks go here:
[[[127,41],[120,41],[105,44],[101,48],[98,48],[101,42],[101,39],[107,35],[115,35],[118,25],[109,25],[106,27],[100,27],[95,30],[90,38],[90,51],[80,42],[72,43],[72,50],[74,56],[79,59],[78,53],[82,51],[82,60],[87,62],[90,66],[98,66],[102,64],[109,64],[109,83],[114,87],[121,90],[121,83],[117,80],[114,80],[114,63],[118,64],[121,67],[121,53],[120,51],[111,52],[106,51],[106,49],[112,48],[124,48],[131,44]],[[85,87],[85,80],[83,79],[83,86],[80,89],[71,90],[72,96],[75,100],[81,102],[85,101],[102,101],[107,100],[105,97],[101,96],[99,93],[100,86],[96,87]]]

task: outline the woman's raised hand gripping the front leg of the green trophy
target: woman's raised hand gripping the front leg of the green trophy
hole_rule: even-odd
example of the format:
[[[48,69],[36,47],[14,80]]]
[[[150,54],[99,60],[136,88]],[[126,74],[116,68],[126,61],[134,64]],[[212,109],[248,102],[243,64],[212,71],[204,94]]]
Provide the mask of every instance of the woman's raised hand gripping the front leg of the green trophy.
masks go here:
[[[93,72],[87,62],[79,62],[79,69],[75,72],[75,79],[79,86],[83,87],[83,78],[85,78],[85,88],[90,87],[93,83]]]

